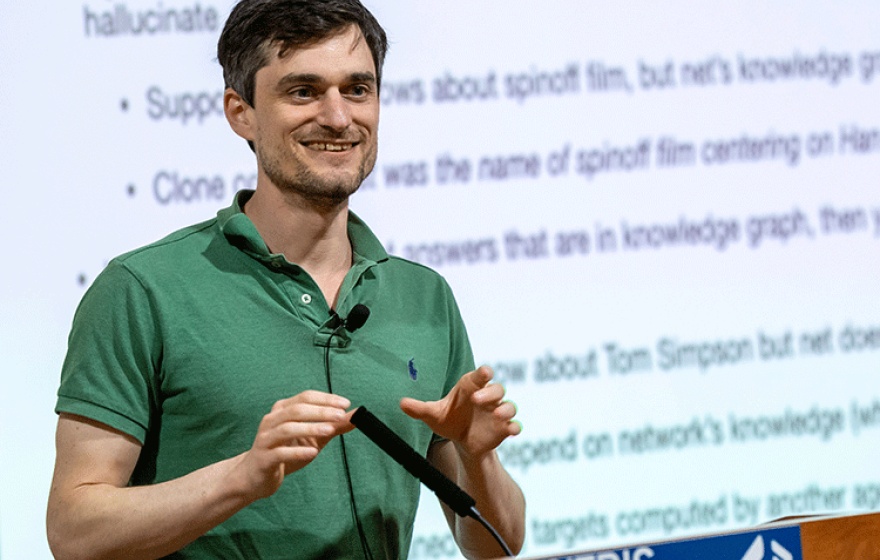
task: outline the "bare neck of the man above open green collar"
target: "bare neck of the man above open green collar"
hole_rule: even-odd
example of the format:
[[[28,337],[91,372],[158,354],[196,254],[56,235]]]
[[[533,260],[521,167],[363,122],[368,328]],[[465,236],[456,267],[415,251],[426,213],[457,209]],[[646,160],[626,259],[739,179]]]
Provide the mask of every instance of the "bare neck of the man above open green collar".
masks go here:
[[[334,308],[352,262],[348,200],[319,205],[296,193],[258,187],[244,211],[269,251],[283,254],[308,272]]]

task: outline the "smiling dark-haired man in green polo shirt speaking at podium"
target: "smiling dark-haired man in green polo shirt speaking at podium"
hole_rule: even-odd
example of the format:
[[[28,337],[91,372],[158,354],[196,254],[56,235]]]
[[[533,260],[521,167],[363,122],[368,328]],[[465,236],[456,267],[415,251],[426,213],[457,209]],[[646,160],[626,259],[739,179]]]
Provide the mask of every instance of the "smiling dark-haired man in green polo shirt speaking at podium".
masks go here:
[[[57,558],[405,557],[418,482],[352,431],[361,405],[521,547],[523,496],[495,453],[513,405],[473,369],[445,282],[348,211],[376,158],[385,45],[357,0],[233,10],[218,58],[257,188],[114,259],[84,296],[56,406]],[[446,514],[465,555],[501,555]]]

